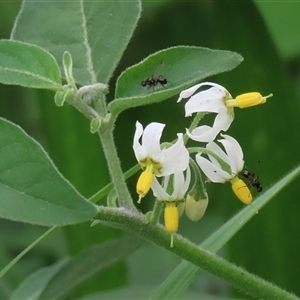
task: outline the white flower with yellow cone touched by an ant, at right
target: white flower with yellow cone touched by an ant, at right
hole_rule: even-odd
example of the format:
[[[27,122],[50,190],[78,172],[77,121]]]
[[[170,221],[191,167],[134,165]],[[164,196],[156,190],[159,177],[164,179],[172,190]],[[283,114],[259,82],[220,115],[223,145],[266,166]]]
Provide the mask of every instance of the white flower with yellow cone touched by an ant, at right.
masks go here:
[[[225,148],[222,150],[216,143],[210,142],[206,149],[217,155],[223,162],[213,155],[208,154],[209,159],[196,155],[196,161],[204,174],[212,182],[224,183],[229,181],[235,195],[245,204],[252,202],[252,195],[243,180],[238,177],[244,167],[243,151],[239,143],[231,136],[223,134],[224,139],[218,140]]]

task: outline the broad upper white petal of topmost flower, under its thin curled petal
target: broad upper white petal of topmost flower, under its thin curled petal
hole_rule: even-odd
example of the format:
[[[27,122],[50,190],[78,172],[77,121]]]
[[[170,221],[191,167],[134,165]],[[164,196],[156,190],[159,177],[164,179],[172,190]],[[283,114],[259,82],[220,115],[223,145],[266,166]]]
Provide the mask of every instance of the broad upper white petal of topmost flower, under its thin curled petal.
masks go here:
[[[219,88],[212,87],[192,96],[185,104],[185,116],[191,116],[195,112],[218,113],[227,107],[224,103],[226,92]]]

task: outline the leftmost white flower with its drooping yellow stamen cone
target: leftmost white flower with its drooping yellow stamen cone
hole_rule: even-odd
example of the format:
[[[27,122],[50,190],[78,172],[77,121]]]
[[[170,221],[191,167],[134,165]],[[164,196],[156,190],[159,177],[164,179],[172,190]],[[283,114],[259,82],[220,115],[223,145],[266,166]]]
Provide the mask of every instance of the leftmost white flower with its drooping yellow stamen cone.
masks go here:
[[[139,201],[144,197],[155,176],[167,176],[186,170],[189,163],[189,152],[184,146],[182,133],[178,133],[177,142],[169,148],[162,149],[160,138],[165,124],[150,123],[145,130],[136,122],[133,139],[133,150],[140,166],[144,169],[137,182]],[[142,136],[142,144],[139,139]]]

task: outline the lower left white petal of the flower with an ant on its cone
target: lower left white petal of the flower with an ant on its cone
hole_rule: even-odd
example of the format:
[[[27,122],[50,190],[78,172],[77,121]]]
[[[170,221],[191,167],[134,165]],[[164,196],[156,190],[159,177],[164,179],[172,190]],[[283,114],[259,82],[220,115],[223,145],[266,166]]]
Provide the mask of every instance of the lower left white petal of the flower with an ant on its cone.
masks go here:
[[[223,171],[219,166],[215,166],[201,155],[196,155],[196,161],[206,177],[212,182],[223,183],[230,179],[230,175],[227,172]]]

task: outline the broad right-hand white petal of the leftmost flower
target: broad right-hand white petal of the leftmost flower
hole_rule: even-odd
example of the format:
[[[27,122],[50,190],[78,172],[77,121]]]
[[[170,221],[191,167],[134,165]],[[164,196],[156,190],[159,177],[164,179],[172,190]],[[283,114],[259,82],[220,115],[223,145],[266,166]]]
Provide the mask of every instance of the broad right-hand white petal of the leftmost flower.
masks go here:
[[[167,176],[186,170],[189,164],[189,152],[183,143],[182,133],[178,133],[177,142],[167,149],[161,151],[158,161],[162,164],[159,176]]]

